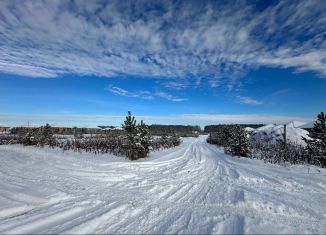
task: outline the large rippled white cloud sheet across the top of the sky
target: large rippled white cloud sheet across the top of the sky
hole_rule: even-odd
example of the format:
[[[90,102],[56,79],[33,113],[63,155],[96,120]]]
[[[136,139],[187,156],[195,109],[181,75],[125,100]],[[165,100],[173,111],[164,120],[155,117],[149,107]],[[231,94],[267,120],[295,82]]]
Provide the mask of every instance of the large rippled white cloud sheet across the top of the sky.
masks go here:
[[[232,87],[248,70],[264,66],[326,77],[325,12],[326,2],[320,0],[261,6],[251,1],[4,0],[0,71],[31,77],[152,77],[179,89],[205,79],[212,87]]]

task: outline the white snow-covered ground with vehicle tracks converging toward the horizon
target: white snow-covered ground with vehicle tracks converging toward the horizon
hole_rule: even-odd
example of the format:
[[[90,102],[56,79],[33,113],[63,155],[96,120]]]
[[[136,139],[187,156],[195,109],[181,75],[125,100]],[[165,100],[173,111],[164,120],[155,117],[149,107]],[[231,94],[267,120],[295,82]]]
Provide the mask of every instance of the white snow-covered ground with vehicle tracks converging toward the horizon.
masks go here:
[[[325,233],[320,170],[230,157],[206,136],[134,162],[0,146],[0,233]]]

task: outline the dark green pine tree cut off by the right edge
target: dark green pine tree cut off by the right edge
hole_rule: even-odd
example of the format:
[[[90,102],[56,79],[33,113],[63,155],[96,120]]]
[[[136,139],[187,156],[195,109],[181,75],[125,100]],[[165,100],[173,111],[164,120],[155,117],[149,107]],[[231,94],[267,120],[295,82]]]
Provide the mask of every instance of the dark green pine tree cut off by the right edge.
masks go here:
[[[317,116],[314,127],[309,132],[311,139],[303,137],[306,142],[308,161],[317,161],[322,167],[326,166],[326,115],[321,112]]]

